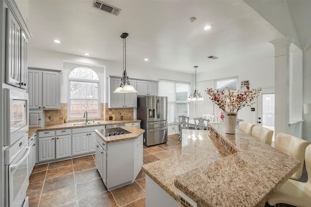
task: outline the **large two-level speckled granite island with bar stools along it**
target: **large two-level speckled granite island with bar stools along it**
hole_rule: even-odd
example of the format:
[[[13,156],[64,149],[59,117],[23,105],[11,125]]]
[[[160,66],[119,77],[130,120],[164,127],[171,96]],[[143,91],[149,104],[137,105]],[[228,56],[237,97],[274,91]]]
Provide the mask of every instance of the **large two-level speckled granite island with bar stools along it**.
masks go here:
[[[183,129],[180,155],[142,166],[146,207],[263,206],[299,167],[297,159],[239,130],[209,126]]]

